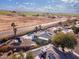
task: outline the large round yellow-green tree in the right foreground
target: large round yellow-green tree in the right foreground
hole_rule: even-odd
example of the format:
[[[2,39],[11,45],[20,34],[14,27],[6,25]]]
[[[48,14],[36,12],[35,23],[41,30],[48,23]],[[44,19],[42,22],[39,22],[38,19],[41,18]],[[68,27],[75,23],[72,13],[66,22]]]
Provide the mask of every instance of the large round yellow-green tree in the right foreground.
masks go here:
[[[65,47],[69,49],[74,49],[74,47],[77,45],[77,39],[74,33],[59,32],[54,35],[52,42],[55,46],[61,47],[62,51],[65,51]]]

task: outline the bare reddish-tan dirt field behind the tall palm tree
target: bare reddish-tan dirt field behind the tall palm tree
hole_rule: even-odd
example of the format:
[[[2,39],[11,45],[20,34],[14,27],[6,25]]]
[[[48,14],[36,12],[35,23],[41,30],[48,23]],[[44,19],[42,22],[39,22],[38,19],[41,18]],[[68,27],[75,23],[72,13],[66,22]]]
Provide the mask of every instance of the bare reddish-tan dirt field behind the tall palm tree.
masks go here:
[[[0,31],[7,30],[11,28],[11,23],[14,22],[18,27],[21,26],[32,26],[36,24],[48,23],[56,21],[56,19],[51,19],[42,16],[8,16],[8,15],[0,15]]]

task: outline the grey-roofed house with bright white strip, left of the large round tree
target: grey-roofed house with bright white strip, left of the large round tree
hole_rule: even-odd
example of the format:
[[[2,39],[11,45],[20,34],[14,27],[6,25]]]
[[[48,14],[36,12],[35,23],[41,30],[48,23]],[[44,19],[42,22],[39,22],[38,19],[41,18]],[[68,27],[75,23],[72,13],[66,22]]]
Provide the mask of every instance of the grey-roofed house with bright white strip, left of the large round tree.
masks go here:
[[[51,39],[51,33],[48,31],[43,31],[43,32],[37,32],[35,34],[35,38],[33,41],[35,41],[37,44],[45,45],[49,43],[50,39]]]

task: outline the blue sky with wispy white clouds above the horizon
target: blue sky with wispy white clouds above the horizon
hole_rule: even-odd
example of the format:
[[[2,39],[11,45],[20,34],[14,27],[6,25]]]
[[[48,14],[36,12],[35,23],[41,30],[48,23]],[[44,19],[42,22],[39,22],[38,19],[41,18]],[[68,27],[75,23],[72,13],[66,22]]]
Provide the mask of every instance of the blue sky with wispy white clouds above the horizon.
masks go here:
[[[79,0],[0,0],[0,10],[79,13]]]

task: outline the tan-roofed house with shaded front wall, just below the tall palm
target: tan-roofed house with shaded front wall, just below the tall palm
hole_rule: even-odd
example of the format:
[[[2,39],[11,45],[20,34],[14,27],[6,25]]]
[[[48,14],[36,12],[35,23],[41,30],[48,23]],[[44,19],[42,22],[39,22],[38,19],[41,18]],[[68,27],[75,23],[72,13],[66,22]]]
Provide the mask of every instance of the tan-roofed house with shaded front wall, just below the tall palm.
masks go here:
[[[10,43],[9,46],[13,49],[15,49],[16,51],[19,51],[21,49],[23,50],[30,50],[35,48],[37,45],[34,41],[30,40],[30,39],[25,39],[20,37],[21,42],[19,42],[16,39],[13,39]]]

